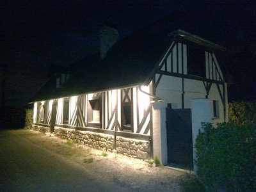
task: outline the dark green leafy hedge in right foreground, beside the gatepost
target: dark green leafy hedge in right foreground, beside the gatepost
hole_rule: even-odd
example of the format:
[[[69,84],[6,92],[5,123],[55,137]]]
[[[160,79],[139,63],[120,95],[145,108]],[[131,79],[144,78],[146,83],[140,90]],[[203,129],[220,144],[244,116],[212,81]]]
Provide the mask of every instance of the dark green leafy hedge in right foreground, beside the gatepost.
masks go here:
[[[256,125],[202,124],[196,138],[198,177],[228,191],[256,190]]]

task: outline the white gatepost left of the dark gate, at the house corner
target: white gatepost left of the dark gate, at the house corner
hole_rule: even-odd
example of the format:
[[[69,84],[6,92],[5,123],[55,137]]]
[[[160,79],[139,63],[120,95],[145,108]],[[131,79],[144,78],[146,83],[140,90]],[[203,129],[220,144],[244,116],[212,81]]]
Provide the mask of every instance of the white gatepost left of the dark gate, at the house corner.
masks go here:
[[[154,102],[153,106],[153,152],[162,164],[168,163],[166,135],[166,102]]]

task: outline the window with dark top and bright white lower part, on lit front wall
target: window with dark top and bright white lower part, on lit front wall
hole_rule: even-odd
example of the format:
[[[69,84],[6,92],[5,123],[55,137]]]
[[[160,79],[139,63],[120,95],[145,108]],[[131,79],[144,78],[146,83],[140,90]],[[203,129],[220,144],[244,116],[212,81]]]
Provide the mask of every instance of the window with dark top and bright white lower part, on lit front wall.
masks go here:
[[[88,124],[93,127],[100,127],[101,124],[101,93],[95,93],[89,96],[88,100]]]

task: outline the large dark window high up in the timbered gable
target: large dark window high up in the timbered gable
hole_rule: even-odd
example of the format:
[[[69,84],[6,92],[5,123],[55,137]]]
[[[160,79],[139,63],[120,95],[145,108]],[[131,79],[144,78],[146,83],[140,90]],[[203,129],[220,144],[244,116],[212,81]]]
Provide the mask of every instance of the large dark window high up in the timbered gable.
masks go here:
[[[198,77],[206,77],[205,51],[200,47],[188,45],[188,74]]]

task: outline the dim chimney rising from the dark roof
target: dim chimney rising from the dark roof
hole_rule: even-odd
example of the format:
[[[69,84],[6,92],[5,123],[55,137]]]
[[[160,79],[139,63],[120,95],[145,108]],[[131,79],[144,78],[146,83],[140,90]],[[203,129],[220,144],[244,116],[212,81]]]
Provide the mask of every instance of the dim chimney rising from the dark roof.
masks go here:
[[[118,31],[114,24],[106,22],[99,31],[100,35],[100,60],[106,57],[109,49],[117,42],[118,40]]]

